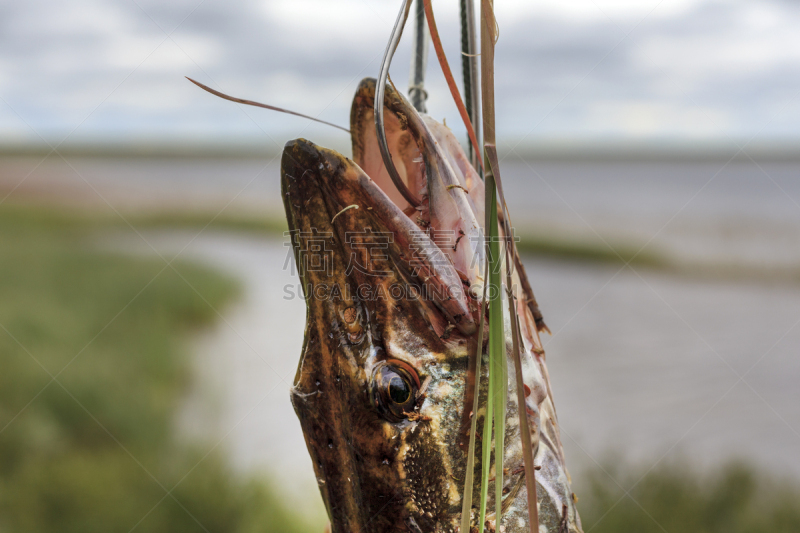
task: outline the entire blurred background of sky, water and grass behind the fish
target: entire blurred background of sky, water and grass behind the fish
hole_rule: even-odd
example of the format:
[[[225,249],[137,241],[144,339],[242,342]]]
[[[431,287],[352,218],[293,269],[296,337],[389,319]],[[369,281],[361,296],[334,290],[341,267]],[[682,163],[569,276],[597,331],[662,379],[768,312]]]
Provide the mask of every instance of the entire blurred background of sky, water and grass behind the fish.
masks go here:
[[[0,2],[0,532],[322,531],[278,158],[349,138],[183,76],[346,126],[398,7]],[[584,531],[800,531],[800,3],[496,11]]]

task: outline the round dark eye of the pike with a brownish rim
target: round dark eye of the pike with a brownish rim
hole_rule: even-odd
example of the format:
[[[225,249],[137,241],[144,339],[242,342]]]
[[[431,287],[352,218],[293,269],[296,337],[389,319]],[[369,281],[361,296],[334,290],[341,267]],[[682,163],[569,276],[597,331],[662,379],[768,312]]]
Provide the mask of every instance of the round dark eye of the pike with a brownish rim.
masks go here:
[[[381,416],[390,422],[408,418],[416,405],[418,390],[417,373],[402,361],[381,361],[372,371],[372,401]]]

